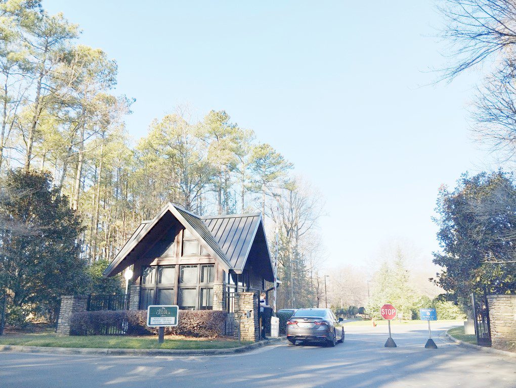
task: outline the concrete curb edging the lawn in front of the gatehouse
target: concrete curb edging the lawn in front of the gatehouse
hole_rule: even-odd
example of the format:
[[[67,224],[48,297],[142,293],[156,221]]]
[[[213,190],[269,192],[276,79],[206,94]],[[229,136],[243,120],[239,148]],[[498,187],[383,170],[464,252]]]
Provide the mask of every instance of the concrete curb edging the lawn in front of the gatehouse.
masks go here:
[[[255,342],[229,349],[101,349],[101,348],[56,348],[44,346],[0,345],[0,352],[57,353],[62,355],[111,355],[111,356],[222,356],[245,353],[254,349],[281,342],[285,336]]]

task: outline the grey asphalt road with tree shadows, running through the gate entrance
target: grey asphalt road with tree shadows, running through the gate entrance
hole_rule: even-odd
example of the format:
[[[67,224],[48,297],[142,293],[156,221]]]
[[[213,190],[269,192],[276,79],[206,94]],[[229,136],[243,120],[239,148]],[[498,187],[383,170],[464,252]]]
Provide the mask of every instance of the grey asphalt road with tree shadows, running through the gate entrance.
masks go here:
[[[434,324],[348,327],[335,348],[268,346],[216,357],[115,357],[0,353],[0,388],[93,387],[516,387],[516,360],[451,343]]]

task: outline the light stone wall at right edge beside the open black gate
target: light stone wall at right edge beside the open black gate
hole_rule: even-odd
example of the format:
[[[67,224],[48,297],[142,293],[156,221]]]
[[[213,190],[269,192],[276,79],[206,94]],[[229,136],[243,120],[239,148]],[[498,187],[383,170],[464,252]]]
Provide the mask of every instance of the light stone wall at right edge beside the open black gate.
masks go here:
[[[516,295],[488,295],[494,347],[516,344]]]

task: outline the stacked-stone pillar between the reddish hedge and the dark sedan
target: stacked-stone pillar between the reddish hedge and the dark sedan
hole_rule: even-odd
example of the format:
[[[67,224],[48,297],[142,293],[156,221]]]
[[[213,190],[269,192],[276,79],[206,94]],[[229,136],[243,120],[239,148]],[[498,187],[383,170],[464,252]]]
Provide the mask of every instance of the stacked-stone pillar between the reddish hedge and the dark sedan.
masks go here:
[[[251,311],[249,318],[247,312]],[[258,294],[238,292],[235,294],[235,329],[233,338],[238,340],[238,328],[242,341],[257,341],[260,338]]]

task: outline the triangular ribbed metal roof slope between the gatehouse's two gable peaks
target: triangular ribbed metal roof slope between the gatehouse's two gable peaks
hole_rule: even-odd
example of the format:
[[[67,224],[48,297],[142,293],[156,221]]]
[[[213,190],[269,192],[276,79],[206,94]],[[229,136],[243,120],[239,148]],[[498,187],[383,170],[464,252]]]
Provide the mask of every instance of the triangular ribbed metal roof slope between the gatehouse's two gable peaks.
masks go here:
[[[201,218],[231,266],[237,271],[241,271],[262,220],[261,214],[234,214]]]

